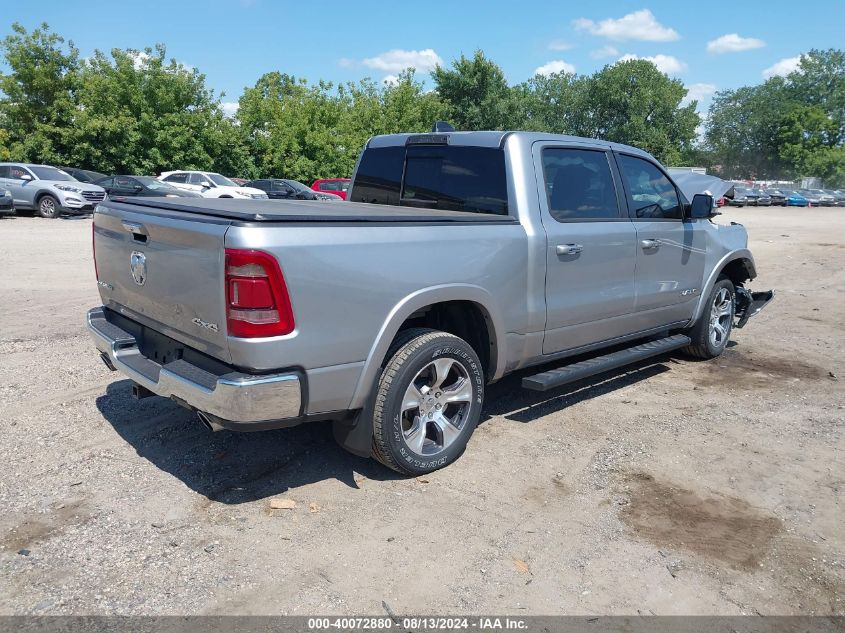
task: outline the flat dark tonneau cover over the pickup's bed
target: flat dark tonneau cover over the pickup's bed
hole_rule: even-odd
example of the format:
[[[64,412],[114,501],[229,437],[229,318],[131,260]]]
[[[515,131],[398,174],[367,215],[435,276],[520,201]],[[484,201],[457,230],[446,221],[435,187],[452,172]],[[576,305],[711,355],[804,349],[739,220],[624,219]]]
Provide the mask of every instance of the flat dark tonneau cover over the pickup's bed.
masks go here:
[[[246,200],[240,198],[110,198],[116,202],[147,210],[200,213],[241,222],[478,222],[516,223],[512,216],[468,213],[440,209],[419,209],[364,202],[320,200]],[[141,211],[141,209],[137,209]]]

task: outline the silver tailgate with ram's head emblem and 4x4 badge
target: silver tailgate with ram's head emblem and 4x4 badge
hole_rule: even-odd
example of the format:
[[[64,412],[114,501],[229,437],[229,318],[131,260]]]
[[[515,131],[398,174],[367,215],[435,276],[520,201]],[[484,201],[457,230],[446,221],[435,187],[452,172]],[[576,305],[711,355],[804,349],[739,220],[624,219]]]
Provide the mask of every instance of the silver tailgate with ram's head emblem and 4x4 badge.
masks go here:
[[[225,221],[143,213],[115,202],[94,213],[103,305],[224,362]]]

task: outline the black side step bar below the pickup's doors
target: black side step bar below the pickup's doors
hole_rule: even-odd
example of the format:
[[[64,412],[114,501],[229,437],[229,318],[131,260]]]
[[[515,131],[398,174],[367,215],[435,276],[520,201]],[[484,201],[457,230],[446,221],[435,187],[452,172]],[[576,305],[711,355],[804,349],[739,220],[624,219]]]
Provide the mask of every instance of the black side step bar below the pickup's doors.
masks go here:
[[[637,361],[649,358],[650,356],[657,356],[665,354],[680,347],[686,347],[690,344],[690,338],[683,334],[675,334],[667,338],[662,338],[656,341],[649,341],[648,343],[641,343],[628,349],[622,349],[618,352],[611,352],[604,356],[597,356],[595,358],[588,358],[579,363],[572,365],[564,365],[558,369],[551,369],[533,376],[528,376],[522,379],[522,387],[532,391],[548,391],[561,385],[565,385],[576,380],[581,380],[587,376],[594,376],[601,374],[617,367],[630,365]]]

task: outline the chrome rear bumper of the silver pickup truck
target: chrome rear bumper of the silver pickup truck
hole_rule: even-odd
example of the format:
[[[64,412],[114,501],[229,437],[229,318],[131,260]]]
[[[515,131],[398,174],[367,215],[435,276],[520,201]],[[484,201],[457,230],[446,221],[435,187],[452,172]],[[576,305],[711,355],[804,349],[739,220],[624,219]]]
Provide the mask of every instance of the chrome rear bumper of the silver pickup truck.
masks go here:
[[[302,388],[296,372],[217,375],[181,359],[160,365],[143,356],[135,337],[110,323],[103,308],[89,310],[87,321],[107,364],[159,396],[181,401],[221,422],[247,424],[302,415]]]

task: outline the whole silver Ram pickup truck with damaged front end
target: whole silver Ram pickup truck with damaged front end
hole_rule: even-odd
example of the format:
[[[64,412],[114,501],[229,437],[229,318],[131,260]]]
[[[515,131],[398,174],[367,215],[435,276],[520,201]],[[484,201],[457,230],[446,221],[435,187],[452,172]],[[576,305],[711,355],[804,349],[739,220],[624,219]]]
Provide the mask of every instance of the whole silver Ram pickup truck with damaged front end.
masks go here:
[[[772,298],[745,229],[633,147],[524,132],[371,139],[351,202],[110,199],[102,358],[214,430],[332,420],[406,474],[457,459],[486,385],[548,390],[722,353]],[[539,367],[539,366],[543,367]]]

